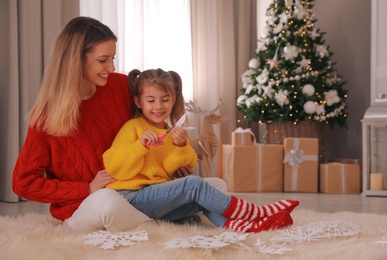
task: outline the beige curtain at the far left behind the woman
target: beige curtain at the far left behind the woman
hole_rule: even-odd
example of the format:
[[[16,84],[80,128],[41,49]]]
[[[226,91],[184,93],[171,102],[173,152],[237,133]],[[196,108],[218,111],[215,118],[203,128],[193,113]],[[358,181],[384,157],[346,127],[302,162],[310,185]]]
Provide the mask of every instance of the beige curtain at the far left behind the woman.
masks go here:
[[[79,14],[78,0],[0,1],[0,200],[17,202],[12,172],[23,145],[52,43]]]

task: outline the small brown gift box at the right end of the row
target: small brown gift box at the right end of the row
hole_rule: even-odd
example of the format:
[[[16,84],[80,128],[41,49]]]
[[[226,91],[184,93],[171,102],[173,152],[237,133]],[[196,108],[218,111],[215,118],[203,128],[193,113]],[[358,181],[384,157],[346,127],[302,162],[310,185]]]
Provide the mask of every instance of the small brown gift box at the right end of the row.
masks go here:
[[[320,164],[320,192],[330,194],[360,193],[359,164]]]

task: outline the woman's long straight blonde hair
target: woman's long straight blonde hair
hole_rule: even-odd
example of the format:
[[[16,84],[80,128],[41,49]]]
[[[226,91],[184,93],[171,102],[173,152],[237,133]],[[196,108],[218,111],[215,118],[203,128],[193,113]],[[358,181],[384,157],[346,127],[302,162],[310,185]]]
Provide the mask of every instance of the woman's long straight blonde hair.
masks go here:
[[[108,40],[116,42],[117,37],[109,27],[90,17],[76,17],[62,29],[28,115],[30,126],[55,136],[69,135],[77,129],[83,60],[96,44]]]

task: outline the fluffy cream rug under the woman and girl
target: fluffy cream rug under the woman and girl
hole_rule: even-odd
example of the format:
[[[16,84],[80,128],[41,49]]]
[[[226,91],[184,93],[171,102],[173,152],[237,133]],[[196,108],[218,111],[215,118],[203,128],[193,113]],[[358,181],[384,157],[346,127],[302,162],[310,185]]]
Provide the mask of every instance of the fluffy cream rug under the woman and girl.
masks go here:
[[[294,225],[285,230],[244,235],[206,220],[87,234],[69,231],[48,215],[3,216],[0,259],[387,259],[385,215],[296,209],[292,216]]]

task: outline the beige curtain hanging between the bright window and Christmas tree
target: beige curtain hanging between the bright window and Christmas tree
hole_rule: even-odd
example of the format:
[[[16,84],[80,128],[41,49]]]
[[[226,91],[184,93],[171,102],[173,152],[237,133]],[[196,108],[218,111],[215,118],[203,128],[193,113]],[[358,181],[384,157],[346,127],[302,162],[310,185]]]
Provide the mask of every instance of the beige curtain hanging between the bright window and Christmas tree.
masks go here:
[[[192,0],[194,102],[227,116],[227,122],[214,125],[221,145],[231,142],[237,126],[236,97],[240,75],[257,44],[255,0]],[[200,124],[197,122],[197,124]],[[212,162],[212,176],[220,176],[222,147]]]

